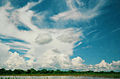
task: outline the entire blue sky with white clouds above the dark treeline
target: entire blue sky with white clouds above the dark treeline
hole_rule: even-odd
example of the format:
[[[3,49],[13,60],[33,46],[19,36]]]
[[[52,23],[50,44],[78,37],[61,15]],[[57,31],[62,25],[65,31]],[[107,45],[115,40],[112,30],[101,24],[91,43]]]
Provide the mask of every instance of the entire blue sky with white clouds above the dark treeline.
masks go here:
[[[0,68],[120,71],[119,0],[0,0]]]

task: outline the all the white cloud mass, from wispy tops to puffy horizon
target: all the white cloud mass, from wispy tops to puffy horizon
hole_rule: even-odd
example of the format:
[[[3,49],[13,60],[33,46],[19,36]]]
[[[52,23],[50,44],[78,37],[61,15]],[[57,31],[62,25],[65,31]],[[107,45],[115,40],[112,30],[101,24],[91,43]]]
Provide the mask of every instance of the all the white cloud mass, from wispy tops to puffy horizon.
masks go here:
[[[85,60],[79,56],[71,59],[70,56],[74,54],[73,48],[81,45],[85,37],[83,29],[65,28],[64,26],[60,26],[63,28],[44,28],[42,25],[48,24],[45,19],[49,12],[37,14],[30,10],[31,7],[41,2],[41,0],[31,2],[19,9],[11,7],[9,2],[0,7],[0,67],[7,69],[33,67],[35,69],[120,70],[120,61],[113,61],[109,64],[103,60],[96,65],[85,65],[83,64]],[[80,7],[84,6],[84,3],[79,0],[66,0],[69,9],[48,18],[56,24],[62,21],[63,25],[64,21],[68,20],[88,20],[97,16],[98,9],[104,4],[104,1],[100,0],[94,8],[82,12],[80,8],[80,10],[76,8],[75,2]],[[34,21],[33,17],[37,21]],[[78,41],[79,43],[75,46],[74,44]],[[22,55],[17,51],[9,52],[10,49],[26,52]]]

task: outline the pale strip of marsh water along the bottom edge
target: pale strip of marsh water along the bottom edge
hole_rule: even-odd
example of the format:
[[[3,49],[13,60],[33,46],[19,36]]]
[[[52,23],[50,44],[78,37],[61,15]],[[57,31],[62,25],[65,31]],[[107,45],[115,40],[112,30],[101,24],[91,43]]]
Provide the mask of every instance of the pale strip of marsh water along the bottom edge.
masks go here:
[[[120,79],[85,76],[0,76],[0,79]]]

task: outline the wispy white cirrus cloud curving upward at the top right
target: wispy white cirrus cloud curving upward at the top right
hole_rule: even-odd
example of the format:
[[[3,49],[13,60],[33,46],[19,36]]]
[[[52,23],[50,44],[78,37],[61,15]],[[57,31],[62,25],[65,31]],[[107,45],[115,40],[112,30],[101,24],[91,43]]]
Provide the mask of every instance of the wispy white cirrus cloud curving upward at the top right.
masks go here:
[[[66,0],[66,3],[69,7],[68,11],[61,12],[57,15],[54,15],[51,17],[54,21],[59,20],[88,20],[92,19],[95,16],[99,15],[99,9],[105,4],[104,0],[99,0],[95,7],[92,9],[87,9],[86,11],[82,11],[81,8],[77,8],[75,6],[75,2],[79,6],[84,6],[84,3],[82,1],[78,0]]]

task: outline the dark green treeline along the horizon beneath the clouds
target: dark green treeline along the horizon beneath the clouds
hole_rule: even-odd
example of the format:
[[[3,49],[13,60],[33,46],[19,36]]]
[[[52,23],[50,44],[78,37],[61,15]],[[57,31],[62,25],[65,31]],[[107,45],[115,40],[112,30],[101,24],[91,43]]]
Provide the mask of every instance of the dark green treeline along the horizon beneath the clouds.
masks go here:
[[[61,71],[61,70],[47,70],[47,69],[42,69],[42,70],[35,70],[33,68],[28,69],[28,70],[21,70],[21,69],[15,69],[15,70],[5,70],[4,68],[0,69],[0,75],[40,75],[40,74],[48,74],[48,75],[80,75],[80,74],[120,74],[120,72],[93,72],[93,71],[74,71],[74,70],[68,70],[68,71]]]

